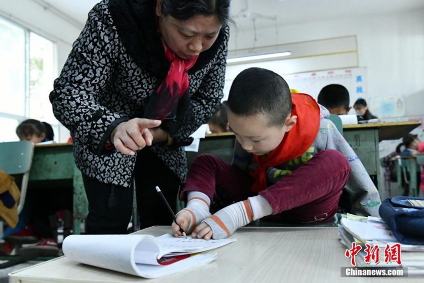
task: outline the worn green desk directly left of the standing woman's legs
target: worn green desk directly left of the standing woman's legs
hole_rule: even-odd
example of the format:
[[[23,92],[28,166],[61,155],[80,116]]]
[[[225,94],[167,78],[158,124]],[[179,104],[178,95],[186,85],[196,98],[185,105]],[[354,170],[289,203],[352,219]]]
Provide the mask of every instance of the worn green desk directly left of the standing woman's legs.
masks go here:
[[[81,171],[75,165],[72,144],[37,144],[29,172],[28,189],[73,188],[73,233],[80,234],[80,225],[88,214],[88,201]]]

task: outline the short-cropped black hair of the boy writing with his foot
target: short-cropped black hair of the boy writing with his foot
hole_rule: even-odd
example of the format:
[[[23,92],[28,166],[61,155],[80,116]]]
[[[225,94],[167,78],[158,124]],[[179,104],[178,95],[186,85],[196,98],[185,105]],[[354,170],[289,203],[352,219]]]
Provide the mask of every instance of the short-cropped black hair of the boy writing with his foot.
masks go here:
[[[282,126],[291,113],[290,88],[278,74],[262,68],[248,68],[232,82],[228,109],[238,116],[265,115],[269,126]]]

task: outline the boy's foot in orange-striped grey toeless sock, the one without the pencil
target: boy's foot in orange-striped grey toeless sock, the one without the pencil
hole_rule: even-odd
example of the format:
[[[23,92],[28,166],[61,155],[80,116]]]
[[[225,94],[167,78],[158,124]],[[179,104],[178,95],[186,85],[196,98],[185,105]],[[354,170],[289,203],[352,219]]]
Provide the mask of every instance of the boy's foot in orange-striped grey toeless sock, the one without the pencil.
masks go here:
[[[224,207],[205,219],[192,233],[192,237],[207,240],[228,238],[238,228],[271,213],[272,208],[265,198],[260,195],[249,197]]]

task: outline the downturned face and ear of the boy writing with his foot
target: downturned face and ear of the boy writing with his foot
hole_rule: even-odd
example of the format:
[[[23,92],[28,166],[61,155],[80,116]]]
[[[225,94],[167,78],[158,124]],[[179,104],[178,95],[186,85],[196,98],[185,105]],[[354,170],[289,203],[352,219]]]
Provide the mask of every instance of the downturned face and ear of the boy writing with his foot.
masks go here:
[[[227,110],[228,124],[244,150],[264,155],[275,149],[284,134],[296,124],[297,116],[288,116],[282,127],[268,126],[268,118],[262,114],[238,116]]]

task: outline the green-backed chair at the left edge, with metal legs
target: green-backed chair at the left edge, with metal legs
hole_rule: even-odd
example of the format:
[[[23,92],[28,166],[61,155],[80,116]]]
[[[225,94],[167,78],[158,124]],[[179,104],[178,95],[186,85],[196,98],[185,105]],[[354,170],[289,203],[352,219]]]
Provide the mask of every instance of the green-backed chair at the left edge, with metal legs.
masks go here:
[[[30,141],[0,142],[0,168],[14,178],[20,191],[17,205],[18,215],[22,211],[25,202],[33,154],[34,144]],[[3,224],[4,221],[1,219],[0,236],[3,236]],[[26,259],[22,259],[18,256],[5,256],[4,258],[2,257],[2,259],[5,260],[5,262],[0,264],[0,269],[26,261]]]

